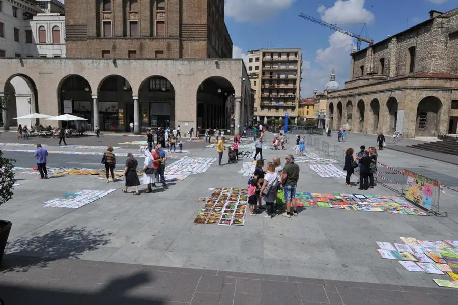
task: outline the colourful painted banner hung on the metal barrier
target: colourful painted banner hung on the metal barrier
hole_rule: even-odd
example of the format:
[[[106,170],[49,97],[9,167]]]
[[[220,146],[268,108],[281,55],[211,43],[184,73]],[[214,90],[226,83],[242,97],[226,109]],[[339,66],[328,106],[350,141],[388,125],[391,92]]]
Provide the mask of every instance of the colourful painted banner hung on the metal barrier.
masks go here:
[[[404,170],[407,175],[406,195],[409,201],[431,210],[433,204],[434,188],[440,186],[440,182],[425,176]]]

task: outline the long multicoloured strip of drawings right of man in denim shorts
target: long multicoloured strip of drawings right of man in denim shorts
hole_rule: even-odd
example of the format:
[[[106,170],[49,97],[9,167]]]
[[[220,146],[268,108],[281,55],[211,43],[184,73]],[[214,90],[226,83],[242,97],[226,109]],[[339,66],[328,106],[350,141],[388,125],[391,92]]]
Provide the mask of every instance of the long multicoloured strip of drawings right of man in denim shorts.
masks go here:
[[[296,192],[296,204],[299,207],[307,208],[334,208],[347,211],[427,216],[425,212],[397,196]]]

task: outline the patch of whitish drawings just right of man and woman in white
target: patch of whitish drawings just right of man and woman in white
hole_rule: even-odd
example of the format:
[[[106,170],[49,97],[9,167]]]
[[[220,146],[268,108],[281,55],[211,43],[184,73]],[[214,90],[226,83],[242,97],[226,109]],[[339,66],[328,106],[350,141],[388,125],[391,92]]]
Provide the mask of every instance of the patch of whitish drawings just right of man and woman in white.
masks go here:
[[[165,166],[165,179],[184,180],[190,175],[206,172],[216,158],[183,157],[178,161]]]

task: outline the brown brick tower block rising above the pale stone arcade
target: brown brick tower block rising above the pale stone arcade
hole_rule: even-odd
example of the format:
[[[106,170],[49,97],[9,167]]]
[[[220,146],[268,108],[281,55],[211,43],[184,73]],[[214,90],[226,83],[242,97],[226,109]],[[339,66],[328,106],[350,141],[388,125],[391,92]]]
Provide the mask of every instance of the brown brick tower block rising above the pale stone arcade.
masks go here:
[[[224,0],[67,0],[67,56],[232,58]]]

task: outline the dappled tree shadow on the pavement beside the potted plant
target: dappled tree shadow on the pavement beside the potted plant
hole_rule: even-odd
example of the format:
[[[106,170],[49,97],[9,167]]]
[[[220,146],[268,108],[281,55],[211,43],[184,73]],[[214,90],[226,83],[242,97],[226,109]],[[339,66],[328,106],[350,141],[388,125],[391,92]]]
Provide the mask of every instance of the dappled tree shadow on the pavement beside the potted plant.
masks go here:
[[[20,237],[7,244],[1,270],[27,272],[33,267],[44,268],[54,260],[77,259],[84,252],[109,244],[111,235],[104,230],[72,226],[41,236]]]

